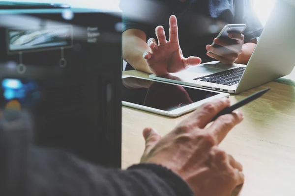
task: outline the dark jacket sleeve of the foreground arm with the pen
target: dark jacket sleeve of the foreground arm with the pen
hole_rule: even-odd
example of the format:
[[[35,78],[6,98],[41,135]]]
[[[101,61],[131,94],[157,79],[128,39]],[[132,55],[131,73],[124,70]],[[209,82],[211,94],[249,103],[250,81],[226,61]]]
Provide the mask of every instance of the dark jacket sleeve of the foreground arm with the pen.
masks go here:
[[[0,117],[0,195],[193,196],[179,176],[162,166],[95,166],[70,153],[32,145],[26,115],[4,119]]]

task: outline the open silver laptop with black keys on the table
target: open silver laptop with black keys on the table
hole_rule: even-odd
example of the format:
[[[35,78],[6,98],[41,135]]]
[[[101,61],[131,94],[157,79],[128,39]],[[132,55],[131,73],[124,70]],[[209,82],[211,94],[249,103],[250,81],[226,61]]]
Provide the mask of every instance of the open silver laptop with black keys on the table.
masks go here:
[[[295,3],[277,0],[247,65],[212,61],[150,78],[239,94],[290,74],[295,66]]]

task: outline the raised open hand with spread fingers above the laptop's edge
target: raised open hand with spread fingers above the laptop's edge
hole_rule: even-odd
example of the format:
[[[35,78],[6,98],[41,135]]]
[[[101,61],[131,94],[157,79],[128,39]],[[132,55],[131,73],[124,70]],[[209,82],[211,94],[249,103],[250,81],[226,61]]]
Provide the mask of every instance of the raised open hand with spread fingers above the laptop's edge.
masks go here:
[[[178,42],[177,19],[173,15],[169,19],[170,40],[167,42],[163,26],[156,27],[156,36],[158,44],[154,38],[148,40],[148,46],[151,52],[146,51],[144,58],[149,69],[156,75],[166,75],[167,73],[176,73],[186,69],[189,66],[199,65],[199,57],[184,58]]]

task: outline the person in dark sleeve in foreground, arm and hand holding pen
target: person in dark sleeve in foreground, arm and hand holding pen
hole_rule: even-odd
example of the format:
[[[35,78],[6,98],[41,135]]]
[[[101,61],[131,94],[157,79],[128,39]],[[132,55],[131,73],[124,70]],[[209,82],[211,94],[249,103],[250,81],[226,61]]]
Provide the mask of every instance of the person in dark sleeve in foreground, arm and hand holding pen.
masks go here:
[[[161,137],[145,128],[146,148],[126,170],[91,165],[59,149],[32,144],[29,116],[0,112],[1,196],[230,196],[242,166],[218,147],[243,120],[235,112],[211,119],[229,99],[204,104]]]

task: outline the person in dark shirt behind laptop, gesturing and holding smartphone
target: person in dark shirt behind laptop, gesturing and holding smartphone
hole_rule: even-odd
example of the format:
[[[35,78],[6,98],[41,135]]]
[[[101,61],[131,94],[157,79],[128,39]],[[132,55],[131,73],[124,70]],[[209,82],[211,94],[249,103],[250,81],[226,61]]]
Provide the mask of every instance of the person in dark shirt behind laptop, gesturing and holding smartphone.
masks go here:
[[[250,0],[121,0],[120,7],[125,70],[156,75],[215,59],[228,65],[247,64],[263,30]],[[233,42],[215,38],[226,24],[247,28],[243,34],[230,33]],[[222,47],[213,48],[212,41]]]

